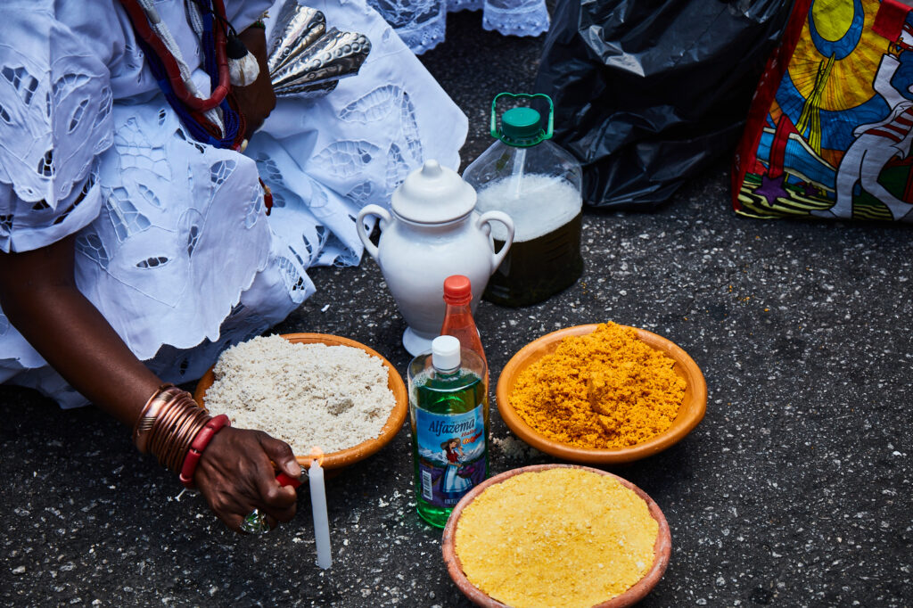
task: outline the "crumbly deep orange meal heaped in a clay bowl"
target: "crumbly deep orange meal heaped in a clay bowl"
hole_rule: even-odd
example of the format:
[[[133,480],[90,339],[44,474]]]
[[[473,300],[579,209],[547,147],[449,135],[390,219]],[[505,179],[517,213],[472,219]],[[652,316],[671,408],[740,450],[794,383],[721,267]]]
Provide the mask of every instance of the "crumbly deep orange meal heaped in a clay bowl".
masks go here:
[[[631,328],[602,323],[568,336],[517,377],[510,404],[552,441],[576,447],[635,446],[675,421],[686,383],[675,361]]]

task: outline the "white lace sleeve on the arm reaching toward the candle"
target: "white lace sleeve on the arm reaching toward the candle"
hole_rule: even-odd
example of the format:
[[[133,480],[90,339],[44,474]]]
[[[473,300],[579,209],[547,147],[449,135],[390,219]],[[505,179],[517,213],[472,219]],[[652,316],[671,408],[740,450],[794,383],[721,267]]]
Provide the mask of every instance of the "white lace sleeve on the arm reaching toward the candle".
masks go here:
[[[26,251],[99,214],[98,157],[111,144],[105,62],[53,3],[0,5],[0,249]]]

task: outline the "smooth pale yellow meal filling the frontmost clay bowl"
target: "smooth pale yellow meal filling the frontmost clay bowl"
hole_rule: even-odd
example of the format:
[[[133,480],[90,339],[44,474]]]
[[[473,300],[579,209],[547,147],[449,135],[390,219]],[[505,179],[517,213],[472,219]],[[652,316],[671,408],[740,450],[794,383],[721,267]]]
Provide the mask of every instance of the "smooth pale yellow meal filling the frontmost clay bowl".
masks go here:
[[[454,547],[469,582],[515,608],[589,608],[653,566],[659,524],[614,477],[579,468],[520,473],[463,509]]]

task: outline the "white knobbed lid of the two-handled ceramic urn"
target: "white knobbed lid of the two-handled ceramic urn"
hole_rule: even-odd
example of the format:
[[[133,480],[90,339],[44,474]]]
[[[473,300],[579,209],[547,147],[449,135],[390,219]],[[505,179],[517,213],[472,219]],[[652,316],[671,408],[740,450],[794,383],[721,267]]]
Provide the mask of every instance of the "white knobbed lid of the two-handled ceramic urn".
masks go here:
[[[453,169],[428,160],[396,188],[391,206],[407,222],[446,224],[476,208],[476,190]]]

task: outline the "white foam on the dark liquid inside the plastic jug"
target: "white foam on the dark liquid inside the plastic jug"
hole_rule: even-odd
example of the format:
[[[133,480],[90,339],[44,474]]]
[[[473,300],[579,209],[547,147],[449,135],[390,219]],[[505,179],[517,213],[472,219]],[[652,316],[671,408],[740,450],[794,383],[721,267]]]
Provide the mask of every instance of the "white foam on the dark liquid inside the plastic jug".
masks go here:
[[[528,173],[499,179],[479,190],[476,210],[485,213],[498,209],[510,215],[514,222],[514,242],[522,243],[570,222],[580,213],[580,196],[567,180]],[[507,228],[500,222],[492,222],[491,236],[503,241],[508,236]]]

